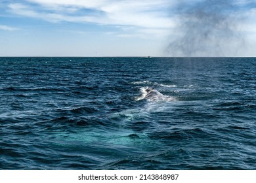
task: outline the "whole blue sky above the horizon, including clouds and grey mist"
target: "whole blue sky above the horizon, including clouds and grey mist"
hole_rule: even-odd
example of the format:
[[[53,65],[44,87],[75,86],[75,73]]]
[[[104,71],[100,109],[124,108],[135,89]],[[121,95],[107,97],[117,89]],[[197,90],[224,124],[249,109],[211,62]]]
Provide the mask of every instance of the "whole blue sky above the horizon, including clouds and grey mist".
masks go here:
[[[0,56],[256,56],[255,0],[0,0]]]

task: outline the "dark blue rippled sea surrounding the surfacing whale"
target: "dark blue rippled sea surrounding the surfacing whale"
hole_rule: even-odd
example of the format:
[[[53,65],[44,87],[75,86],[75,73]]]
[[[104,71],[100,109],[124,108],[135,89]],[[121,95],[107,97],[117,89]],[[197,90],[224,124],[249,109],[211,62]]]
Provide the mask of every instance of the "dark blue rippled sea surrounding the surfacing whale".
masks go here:
[[[256,169],[255,58],[0,58],[0,101],[1,169]]]

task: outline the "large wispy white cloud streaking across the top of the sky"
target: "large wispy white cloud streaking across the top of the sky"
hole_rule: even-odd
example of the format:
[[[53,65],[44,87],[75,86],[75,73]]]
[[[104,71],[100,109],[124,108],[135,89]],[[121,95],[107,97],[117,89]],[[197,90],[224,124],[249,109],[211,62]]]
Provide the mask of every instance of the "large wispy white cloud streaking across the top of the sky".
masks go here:
[[[175,26],[175,22],[169,18],[169,12],[166,10],[170,5],[168,0],[28,0],[26,3],[12,3],[9,8],[14,14],[49,22],[89,22],[169,29]],[[90,10],[95,13],[88,13]]]

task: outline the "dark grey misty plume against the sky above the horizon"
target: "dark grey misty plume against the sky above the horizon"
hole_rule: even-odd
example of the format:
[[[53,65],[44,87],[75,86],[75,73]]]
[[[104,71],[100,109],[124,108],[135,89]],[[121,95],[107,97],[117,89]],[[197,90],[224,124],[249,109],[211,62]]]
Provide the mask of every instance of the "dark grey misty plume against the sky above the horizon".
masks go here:
[[[181,1],[178,26],[167,46],[169,56],[238,56],[245,46],[242,16],[235,1]]]

